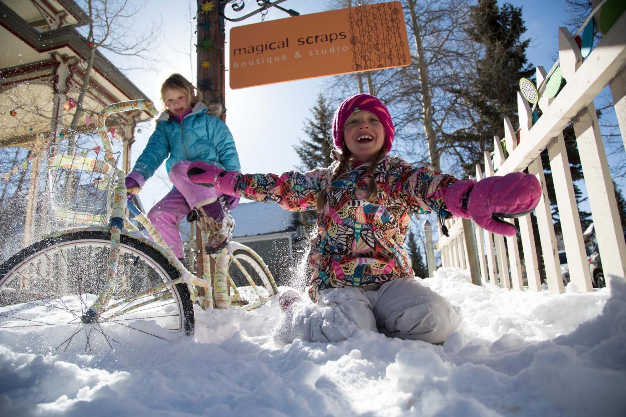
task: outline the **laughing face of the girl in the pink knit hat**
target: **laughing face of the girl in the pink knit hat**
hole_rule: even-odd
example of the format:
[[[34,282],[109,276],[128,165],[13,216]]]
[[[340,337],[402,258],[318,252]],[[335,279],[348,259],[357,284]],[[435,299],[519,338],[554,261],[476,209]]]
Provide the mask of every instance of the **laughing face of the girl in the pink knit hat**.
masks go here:
[[[348,118],[344,141],[354,160],[370,162],[384,145],[385,130],[374,113],[357,111]]]

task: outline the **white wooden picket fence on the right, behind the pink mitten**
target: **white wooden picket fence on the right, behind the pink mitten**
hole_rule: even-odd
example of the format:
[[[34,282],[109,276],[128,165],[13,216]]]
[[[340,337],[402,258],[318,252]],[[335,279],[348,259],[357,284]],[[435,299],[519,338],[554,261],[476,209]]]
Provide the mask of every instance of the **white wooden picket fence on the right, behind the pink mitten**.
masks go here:
[[[505,118],[503,142],[506,152],[500,138],[496,136],[493,157],[485,152],[484,170],[476,165],[476,180],[526,168],[540,180],[543,196],[535,209],[535,215],[541,247],[535,247],[530,215],[515,220],[521,235],[523,261],[516,237],[491,234],[464,219],[447,222],[449,237],[444,237],[439,230],[440,239],[436,249],[441,252],[442,265],[469,269],[475,284],[499,283],[501,287],[523,291],[525,278],[528,290],[541,291],[538,259],[543,254],[548,291],[552,294],[564,291],[557,239],[540,158],[540,153],[547,148],[570,277],[580,291],[592,291],[583,230],[563,140],[563,129],[570,122],[573,123],[580,152],[607,286],[614,279],[625,279],[626,244],[593,99],[609,86],[626,148],[626,13],[622,14],[584,61],[575,39],[566,28],[559,29],[558,46],[560,67],[567,85],[553,99],[546,95],[540,97],[538,106],[543,114],[534,125],[531,108],[518,92],[520,130],[516,133],[511,121]],[[545,77],[545,70],[538,67],[537,85]],[[622,155],[622,158],[626,156]],[[525,266],[524,274],[522,265]]]

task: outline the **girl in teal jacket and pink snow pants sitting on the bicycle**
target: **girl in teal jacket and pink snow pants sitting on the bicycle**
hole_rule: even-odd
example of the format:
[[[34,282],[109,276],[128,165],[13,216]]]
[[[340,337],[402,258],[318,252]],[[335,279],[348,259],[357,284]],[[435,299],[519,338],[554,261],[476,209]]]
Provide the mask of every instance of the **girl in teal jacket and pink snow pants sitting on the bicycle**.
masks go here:
[[[239,197],[228,195],[222,205],[218,198],[223,193],[190,182],[187,168],[193,161],[204,161],[229,171],[240,170],[239,155],[228,127],[208,113],[207,106],[200,101],[200,92],[185,77],[172,74],[165,80],[161,98],[166,110],[156,120],[155,132],[126,177],[126,188],[143,187],[169,155],[165,168],[174,186],[150,209],[148,219],[182,261],[185,254],[178,233],[180,220],[187,215],[206,216],[203,220],[209,229],[207,251],[210,252],[225,242],[230,232],[229,216],[225,216],[224,209],[232,210],[239,202]],[[128,192],[127,197],[133,198],[133,193]]]

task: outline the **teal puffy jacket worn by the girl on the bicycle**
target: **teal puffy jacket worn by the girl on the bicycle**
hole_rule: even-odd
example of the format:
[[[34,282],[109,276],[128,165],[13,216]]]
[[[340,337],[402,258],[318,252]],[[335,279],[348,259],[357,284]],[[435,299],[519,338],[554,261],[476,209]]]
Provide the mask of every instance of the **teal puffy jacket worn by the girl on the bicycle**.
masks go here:
[[[203,161],[229,171],[241,171],[235,141],[226,124],[207,113],[207,106],[197,103],[182,123],[164,111],[156,121],[156,130],[133,168],[145,180],[150,178],[165,158],[167,172],[180,161]]]

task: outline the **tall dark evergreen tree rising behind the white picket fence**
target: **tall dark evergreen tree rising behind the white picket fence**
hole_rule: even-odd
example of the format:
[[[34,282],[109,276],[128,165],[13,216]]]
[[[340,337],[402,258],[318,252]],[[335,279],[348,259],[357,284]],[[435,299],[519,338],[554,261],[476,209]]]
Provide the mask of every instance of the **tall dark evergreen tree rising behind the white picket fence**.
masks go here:
[[[493,136],[502,136],[503,119],[515,120],[520,78],[529,78],[533,70],[526,59],[529,39],[520,38],[526,27],[521,7],[496,0],[479,0],[470,8],[471,26],[467,33],[479,46],[475,81],[461,91],[471,110],[472,124],[451,135],[463,169],[475,175],[475,164],[483,162],[486,150],[493,148]]]

